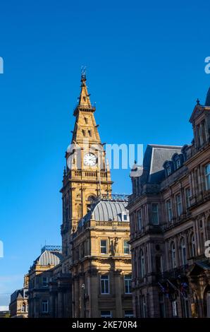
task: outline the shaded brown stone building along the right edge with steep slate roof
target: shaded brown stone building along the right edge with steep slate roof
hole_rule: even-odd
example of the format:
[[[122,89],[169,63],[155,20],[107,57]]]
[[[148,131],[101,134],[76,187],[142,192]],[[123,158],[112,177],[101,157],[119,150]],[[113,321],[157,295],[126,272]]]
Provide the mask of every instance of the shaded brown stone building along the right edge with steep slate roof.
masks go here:
[[[132,170],[132,300],[137,317],[210,316],[210,104],[194,107],[194,139],[147,146]]]

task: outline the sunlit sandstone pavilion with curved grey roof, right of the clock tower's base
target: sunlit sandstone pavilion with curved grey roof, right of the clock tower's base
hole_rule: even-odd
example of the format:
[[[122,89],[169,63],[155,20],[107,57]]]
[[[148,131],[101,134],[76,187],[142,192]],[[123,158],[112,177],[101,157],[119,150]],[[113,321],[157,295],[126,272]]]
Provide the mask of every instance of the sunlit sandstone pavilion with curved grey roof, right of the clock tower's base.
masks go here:
[[[133,315],[126,205],[116,200],[94,203],[72,237],[73,317]]]

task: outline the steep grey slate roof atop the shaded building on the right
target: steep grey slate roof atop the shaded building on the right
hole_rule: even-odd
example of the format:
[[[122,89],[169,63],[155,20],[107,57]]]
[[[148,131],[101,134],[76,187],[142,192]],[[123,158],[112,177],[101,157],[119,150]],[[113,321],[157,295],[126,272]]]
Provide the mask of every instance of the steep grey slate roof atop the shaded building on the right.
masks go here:
[[[143,167],[147,172],[147,183],[157,183],[164,178],[163,163],[181,153],[182,146],[159,146],[149,144],[144,153]]]

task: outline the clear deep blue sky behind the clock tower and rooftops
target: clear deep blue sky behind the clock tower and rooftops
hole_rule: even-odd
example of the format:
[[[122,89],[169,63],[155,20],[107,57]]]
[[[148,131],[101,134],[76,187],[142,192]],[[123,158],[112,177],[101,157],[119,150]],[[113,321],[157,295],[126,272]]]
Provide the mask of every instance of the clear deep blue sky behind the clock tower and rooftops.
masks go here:
[[[209,1],[1,1],[0,306],[41,245],[61,244],[64,153],[80,67],[101,140],[183,145],[210,76]],[[128,170],[113,192],[130,193]]]

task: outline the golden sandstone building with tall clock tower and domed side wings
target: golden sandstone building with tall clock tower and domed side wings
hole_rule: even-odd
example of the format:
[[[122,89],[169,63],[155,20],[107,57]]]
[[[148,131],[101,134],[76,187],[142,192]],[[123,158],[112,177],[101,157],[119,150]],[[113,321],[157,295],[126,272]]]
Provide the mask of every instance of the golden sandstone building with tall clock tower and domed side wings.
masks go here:
[[[111,195],[111,174],[94,112],[82,74],[61,188],[62,251],[44,247],[30,268],[30,317],[133,314],[128,202]]]

